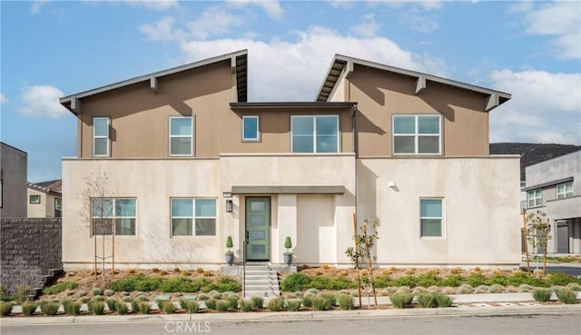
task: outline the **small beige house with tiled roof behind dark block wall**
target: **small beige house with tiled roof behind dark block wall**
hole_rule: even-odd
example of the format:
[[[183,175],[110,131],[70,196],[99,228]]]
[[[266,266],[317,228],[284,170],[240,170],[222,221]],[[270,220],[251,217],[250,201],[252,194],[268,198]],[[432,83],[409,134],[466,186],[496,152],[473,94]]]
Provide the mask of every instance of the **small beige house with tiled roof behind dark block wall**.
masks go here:
[[[63,206],[61,180],[28,182],[28,217],[60,218]]]

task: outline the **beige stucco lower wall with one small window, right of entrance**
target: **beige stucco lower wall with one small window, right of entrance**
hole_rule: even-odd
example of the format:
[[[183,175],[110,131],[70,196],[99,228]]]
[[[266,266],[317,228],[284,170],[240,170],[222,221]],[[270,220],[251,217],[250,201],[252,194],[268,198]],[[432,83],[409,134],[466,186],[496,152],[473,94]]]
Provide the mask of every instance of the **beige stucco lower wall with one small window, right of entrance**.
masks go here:
[[[520,262],[517,156],[363,159],[357,172],[359,222],[379,220],[379,264]],[[444,198],[444,237],[420,238],[420,197]]]

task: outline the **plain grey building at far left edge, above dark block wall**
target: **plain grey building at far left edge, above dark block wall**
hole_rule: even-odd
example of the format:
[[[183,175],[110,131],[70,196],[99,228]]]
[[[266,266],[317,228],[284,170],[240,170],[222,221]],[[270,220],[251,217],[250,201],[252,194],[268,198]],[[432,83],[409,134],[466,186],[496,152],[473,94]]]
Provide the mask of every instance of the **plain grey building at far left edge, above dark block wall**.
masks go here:
[[[27,154],[5,143],[0,146],[0,218],[24,218]]]

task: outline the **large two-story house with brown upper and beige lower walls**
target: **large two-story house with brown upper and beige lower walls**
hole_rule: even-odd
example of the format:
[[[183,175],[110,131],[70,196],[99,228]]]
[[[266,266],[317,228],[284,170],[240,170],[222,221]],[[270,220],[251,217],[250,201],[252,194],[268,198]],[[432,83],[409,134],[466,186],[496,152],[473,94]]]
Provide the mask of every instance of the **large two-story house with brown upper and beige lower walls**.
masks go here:
[[[111,222],[116,268],[218,268],[229,235],[236,261],[281,263],[290,236],[295,263],[349,266],[354,215],[379,222],[379,267],[517,267],[519,159],[488,153],[510,94],[336,55],[315,102],[248,103],[247,57],[60,99],[65,269]]]

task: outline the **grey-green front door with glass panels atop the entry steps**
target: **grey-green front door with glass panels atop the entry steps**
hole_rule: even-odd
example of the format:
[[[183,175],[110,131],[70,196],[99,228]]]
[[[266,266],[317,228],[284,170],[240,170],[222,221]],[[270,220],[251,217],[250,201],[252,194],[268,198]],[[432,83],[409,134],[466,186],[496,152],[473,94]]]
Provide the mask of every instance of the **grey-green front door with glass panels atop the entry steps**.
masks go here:
[[[246,260],[271,259],[271,198],[246,197]]]

